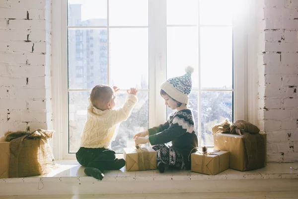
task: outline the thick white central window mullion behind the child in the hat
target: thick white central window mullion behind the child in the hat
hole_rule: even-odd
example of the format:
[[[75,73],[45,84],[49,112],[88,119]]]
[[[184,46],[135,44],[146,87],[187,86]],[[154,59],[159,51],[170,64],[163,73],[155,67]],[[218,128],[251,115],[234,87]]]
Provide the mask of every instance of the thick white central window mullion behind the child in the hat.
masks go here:
[[[149,0],[149,127],[164,123],[166,106],[159,95],[166,80],[166,0]]]

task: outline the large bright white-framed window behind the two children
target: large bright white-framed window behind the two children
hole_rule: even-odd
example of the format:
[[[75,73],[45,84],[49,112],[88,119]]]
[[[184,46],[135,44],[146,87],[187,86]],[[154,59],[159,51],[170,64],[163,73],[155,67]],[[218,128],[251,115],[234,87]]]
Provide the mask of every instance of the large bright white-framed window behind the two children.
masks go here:
[[[225,117],[244,118],[245,45],[239,26],[243,22],[233,20],[232,1],[68,0],[67,7],[73,11],[68,12],[68,46],[63,48],[63,55],[68,55],[64,59],[68,68],[62,69],[67,80],[62,79],[65,87],[61,89],[65,96],[61,103],[68,107],[64,111],[68,121],[61,122],[63,132],[68,132],[64,157],[74,157],[79,147],[87,99],[97,84],[122,89],[116,98],[118,106],[125,100],[126,89],[139,90],[138,104],[111,144],[117,153],[134,146],[135,133],[166,121],[173,110],[165,107],[159,87],[166,79],[183,75],[188,65],[195,68],[189,107],[200,146],[213,146],[212,125]],[[79,26],[73,18],[80,21]],[[82,38],[76,37],[78,32]],[[86,37],[91,32],[93,36]],[[80,57],[74,47],[77,42],[84,49]],[[92,51],[87,49],[91,46]],[[99,56],[90,58],[93,53]],[[80,73],[75,66],[81,60],[90,74],[77,78]],[[86,64],[89,61],[98,64],[93,68]]]

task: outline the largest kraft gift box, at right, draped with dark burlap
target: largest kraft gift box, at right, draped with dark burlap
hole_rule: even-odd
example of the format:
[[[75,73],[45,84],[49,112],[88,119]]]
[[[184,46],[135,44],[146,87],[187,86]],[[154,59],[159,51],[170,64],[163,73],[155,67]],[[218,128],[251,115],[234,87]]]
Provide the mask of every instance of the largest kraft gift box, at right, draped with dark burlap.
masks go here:
[[[214,149],[230,152],[229,168],[247,171],[266,165],[266,133],[216,133]]]

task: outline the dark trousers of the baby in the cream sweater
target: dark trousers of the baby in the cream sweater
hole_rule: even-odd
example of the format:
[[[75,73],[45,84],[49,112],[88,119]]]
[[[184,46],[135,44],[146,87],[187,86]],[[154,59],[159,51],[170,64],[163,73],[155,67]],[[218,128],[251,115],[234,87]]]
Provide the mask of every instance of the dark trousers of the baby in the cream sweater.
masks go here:
[[[84,167],[97,168],[101,172],[104,170],[115,170],[115,151],[106,148],[84,148],[80,147],[76,152],[76,160]]]

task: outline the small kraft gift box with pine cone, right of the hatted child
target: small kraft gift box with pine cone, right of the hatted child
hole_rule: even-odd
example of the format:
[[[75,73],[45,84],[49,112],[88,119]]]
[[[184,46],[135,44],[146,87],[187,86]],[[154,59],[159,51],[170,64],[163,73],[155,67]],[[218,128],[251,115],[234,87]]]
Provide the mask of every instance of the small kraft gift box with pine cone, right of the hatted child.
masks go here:
[[[191,154],[191,171],[201,174],[216,175],[229,167],[229,152],[213,151],[207,155],[201,152]]]

